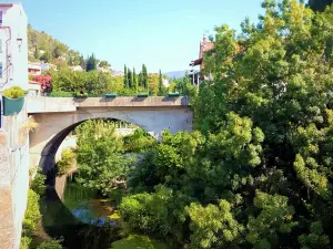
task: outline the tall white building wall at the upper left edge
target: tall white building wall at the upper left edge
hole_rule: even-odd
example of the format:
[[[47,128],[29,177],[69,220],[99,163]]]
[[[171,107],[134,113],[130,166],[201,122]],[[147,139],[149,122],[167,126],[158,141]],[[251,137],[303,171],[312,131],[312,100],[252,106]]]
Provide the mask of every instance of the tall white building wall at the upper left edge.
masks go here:
[[[0,92],[29,89],[28,20],[21,3],[0,3]]]

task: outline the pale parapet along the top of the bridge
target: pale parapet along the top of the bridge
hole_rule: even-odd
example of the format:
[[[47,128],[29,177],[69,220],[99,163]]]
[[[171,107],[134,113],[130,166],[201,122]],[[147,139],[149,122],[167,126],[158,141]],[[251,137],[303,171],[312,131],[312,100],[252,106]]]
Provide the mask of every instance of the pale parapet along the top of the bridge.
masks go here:
[[[27,97],[28,113],[75,112],[78,107],[186,107],[190,100],[182,97]]]

